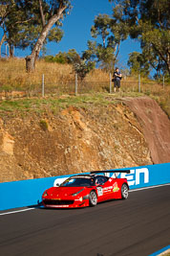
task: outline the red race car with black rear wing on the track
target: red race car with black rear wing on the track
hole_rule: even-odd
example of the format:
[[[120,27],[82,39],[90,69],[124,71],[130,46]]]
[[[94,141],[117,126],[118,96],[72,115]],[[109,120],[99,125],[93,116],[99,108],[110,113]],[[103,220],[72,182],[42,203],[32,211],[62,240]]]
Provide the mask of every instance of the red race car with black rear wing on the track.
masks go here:
[[[103,171],[104,173],[126,173],[130,171]],[[96,206],[97,202],[128,198],[129,186],[126,178],[101,175],[101,171],[90,175],[73,175],[58,187],[46,190],[42,202],[48,208],[76,208]]]

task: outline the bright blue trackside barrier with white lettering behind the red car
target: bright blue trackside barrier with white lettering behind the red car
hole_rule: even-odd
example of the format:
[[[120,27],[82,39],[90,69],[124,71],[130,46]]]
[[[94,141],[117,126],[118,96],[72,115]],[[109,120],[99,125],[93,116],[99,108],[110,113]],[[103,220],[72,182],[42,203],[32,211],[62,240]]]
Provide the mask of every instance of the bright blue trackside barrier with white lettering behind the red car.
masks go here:
[[[170,163],[124,168],[127,169],[131,170],[130,174],[117,175],[127,178],[130,189],[170,183]],[[0,183],[0,210],[37,205],[46,189],[61,183],[69,176],[71,175]]]

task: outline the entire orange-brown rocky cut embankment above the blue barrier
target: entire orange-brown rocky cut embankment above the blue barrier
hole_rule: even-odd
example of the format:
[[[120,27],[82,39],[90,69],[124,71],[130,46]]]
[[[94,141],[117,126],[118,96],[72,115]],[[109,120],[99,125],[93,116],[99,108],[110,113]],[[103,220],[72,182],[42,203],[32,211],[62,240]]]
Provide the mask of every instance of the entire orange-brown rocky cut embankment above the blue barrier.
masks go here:
[[[169,132],[149,98],[3,117],[0,182],[168,162]]]

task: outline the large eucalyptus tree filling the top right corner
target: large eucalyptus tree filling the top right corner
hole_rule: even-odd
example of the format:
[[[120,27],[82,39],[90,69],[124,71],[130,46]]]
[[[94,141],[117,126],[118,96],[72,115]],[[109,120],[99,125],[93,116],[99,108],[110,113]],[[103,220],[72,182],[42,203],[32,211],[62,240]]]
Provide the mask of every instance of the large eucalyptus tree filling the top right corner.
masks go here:
[[[161,66],[170,73],[169,0],[109,1],[122,7],[131,37],[140,41],[142,49],[151,48],[152,58],[155,56],[156,62],[162,62]]]

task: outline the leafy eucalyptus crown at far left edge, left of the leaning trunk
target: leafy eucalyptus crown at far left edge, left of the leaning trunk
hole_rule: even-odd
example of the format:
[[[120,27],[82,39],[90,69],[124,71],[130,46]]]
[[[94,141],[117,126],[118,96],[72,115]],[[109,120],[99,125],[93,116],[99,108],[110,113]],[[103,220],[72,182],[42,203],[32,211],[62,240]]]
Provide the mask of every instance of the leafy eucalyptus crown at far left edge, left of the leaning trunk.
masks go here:
[[[25,49],[32,45],[33,38],[38,35],[40,21],[35,17],[35,8],[30,1],[27,5],[19,0],[0,0],[0,25],[3,29],[1,45],[4,41],[9,44],[10,56],[13,47]]]

